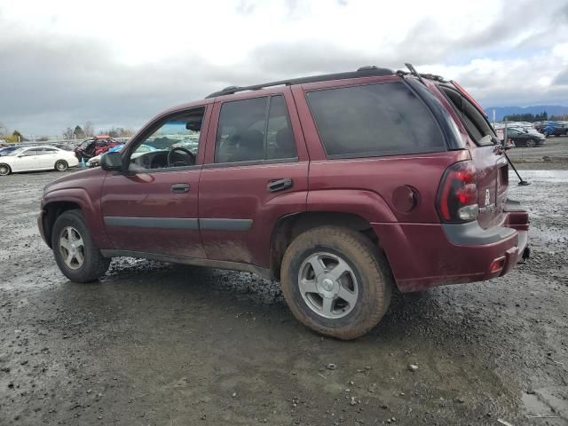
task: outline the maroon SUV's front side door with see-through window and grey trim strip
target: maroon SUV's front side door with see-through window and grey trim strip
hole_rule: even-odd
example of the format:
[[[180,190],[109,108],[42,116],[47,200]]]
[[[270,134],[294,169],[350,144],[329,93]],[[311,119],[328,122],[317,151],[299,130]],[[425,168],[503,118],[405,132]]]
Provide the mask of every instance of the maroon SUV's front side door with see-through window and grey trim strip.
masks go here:
[[[128,171],[108,172],[102,191],[106,231],[114,248],[167,256],[205,257],[197,197],[209,106],[169,114],[125,147]]]

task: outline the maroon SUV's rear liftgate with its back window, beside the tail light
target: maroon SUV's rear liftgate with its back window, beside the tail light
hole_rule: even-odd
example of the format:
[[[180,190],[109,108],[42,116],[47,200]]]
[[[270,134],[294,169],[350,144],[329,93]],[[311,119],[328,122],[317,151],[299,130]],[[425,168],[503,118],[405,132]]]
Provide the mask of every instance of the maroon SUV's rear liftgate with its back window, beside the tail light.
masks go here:
[[[483,228],[500,225],[507,201],[509,167],[500,146],[493,144],[496,137],[485,114],[475,101],[457,84],[439,84],[469,135],[469,152],[477,170],[477,222]],[[469,100],[471,99],[471,100]]]

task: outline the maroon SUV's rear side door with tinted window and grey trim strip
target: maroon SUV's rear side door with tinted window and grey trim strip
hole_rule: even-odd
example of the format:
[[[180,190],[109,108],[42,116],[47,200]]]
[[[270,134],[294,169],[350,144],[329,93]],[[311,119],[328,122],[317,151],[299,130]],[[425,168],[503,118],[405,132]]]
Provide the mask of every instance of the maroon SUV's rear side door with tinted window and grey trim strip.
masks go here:
[[[267,267],[274,224],[306,209],[309,161],[291,92],[217,99],[209,129],[199,192],[203,248],[209,259]]]

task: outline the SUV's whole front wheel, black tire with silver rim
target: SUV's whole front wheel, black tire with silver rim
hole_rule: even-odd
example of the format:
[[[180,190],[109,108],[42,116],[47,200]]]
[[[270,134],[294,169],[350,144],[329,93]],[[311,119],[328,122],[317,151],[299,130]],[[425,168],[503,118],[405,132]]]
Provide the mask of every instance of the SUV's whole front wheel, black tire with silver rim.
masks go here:
[[[51,248],[59,270],[74,282],[98,280],[110,264],[91,240],[81,210],[67,210],[53,225]]]

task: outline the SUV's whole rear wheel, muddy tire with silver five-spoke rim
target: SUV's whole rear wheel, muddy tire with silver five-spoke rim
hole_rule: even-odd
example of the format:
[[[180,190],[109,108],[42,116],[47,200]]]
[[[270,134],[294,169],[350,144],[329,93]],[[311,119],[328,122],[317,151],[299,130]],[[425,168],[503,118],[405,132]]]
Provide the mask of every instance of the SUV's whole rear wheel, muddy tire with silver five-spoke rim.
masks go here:
[[[366,334],[390,304],[390,268],[378,248],[349,228],[321,226],[288,247],[282,292],[296,319],[322,335]]]

